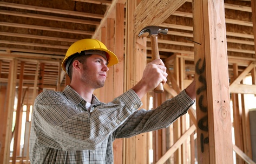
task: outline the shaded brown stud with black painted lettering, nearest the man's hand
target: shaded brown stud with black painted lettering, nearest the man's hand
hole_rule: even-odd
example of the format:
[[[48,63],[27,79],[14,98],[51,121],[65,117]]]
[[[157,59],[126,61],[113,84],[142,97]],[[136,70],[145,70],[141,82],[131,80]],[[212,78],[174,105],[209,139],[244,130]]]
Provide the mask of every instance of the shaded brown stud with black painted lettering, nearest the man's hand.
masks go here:
[[[210,163],[209,159],[209,132],[206,92],[205,66],[205,38],[204,19],[201,0],[193,0],[193,29],[195,53],[195,80],[196,80],[196,129],[198,143],[198,163]]]

